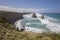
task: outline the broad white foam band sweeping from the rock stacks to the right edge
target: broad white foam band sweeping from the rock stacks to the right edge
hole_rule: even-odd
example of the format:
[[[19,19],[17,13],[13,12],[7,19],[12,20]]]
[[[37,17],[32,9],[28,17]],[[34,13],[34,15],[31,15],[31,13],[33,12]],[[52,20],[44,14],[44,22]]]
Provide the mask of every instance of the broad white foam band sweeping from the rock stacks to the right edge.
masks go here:
[[[53,23],[49,21],[49,20],[57,21],[57,19],[54,19],[48,16],[45,16],[45,19],[41,19],[41,18],[38,18],[38,19],[42,22],[42,24],[46,24],[47,28],[50,29],[50,31],[56,32],[56,33],[60,32],[60,25],[58,23]]]

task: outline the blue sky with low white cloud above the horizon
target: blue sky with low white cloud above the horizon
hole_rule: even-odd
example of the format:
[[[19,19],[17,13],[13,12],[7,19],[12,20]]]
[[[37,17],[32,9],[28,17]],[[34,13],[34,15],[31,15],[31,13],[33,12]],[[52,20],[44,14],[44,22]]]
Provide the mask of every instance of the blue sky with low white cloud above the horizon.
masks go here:
[[[60,0],[0,0],[0,10],[2,8],[6,10],[7,7],[7,10],[15,11],[23,9],[26,11],[38,10],[39,12],[60,13]]]

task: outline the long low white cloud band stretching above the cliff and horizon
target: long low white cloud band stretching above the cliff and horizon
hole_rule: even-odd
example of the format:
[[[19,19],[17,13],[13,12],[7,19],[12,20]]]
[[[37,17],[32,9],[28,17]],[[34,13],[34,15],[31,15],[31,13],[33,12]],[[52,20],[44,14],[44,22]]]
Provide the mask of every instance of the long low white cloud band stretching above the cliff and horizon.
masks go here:
[[[12,12],[45,12],[48,9],[47,8],[13,8],[9,6],[2,6],[0,5],[1,11],[12,11]]]

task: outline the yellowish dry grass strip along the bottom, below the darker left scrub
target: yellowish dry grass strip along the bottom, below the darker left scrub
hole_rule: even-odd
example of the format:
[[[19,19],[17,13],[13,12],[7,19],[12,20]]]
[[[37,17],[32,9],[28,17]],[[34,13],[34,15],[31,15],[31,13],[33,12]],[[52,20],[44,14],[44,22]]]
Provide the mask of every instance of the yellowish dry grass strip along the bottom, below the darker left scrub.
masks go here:
[[[60,40],[60,34],[8,31],[1,40]]]

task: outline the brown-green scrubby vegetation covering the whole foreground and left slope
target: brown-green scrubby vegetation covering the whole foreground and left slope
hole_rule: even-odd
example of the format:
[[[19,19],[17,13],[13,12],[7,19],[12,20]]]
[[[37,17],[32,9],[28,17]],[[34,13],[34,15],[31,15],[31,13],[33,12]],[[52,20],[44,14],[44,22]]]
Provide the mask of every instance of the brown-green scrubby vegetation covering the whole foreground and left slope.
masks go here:
[[[60,34],[19,32],[4,18],[0,18],[0,40],[60,40]]]

